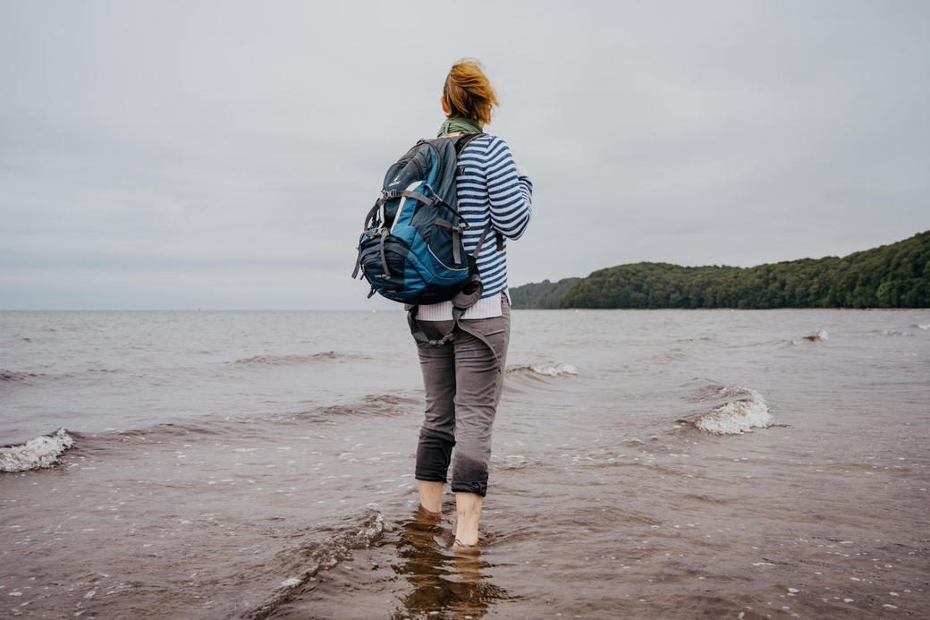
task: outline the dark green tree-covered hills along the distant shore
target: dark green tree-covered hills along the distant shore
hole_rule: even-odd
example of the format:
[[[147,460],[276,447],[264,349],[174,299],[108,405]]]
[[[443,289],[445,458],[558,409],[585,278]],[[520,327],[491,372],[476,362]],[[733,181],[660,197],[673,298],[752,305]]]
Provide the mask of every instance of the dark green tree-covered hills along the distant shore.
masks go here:
[[[621,264],[511,289],[514,308],[926,308],[930,231],[838,258],[755,267]]]

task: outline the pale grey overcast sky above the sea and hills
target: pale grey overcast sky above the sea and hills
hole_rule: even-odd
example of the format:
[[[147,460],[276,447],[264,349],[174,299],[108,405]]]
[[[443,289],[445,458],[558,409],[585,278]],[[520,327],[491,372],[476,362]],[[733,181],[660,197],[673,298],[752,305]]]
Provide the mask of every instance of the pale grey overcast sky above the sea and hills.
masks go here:
[[[0,308],[366,308],[384,170],[484,61],[511,285],[930,228],[930,3],[0,2]]]

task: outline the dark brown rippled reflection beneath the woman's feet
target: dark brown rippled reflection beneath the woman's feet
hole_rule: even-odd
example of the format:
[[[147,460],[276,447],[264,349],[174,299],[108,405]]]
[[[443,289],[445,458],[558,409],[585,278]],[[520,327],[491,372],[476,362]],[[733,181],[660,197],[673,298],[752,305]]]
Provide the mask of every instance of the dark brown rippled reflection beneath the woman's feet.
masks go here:
[[[480,618],[490,604],[512,597],[492,584],[482,571],[492,564],[477,549],[454,550],[440,518],[422,508],[401,524],[398,552],[402,561],[392,566],[413,586],[395,618],[438,612],[438,617]]]

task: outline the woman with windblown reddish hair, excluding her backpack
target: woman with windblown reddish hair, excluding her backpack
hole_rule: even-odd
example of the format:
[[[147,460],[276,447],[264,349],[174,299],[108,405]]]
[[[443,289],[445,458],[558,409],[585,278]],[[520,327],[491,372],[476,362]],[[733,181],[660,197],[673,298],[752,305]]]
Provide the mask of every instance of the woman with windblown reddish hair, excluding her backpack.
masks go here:
[[[480,132],[498,105],[480,62],[464,59],[445,78],[440,136]],[[524,234],[532,212],[533,184],[516,165],[507,143],[480,136],[458,156],[458,211],[469,223],[465,250],[472,253],[490,219],[495,233],[508,239]],[[510,300],[507,296],[507,249],[491,241],[478,256],[485,290],[462,317],[471,330],[484,334],[493,351],[472,334],[457,330],[436,347],[419,344],[420,369],[426,387],[426,417],[419,432],[417,473],[420,505],[438,514],[443,485],[455,446],[452,491],[456,494],[456,546],[478,543],[478,522],[487,492],[487,462],[491,426],[504,380],[504,360],[510,342]],[[420,328],[431,340],[453,326],[452,303],[419,306]]]

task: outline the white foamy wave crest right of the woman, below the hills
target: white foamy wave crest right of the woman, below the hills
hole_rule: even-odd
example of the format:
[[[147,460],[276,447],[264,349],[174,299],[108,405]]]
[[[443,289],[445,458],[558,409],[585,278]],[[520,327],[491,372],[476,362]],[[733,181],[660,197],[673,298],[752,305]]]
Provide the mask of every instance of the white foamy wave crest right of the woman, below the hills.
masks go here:
[[[679,421],[714,435],[741,435],[753,428],[767,428],[775,422],[765,398],[747,387],[709,385],[697,390],[689,399],[696,402],[723,401],[693,419]]]

